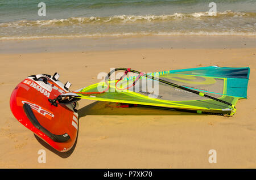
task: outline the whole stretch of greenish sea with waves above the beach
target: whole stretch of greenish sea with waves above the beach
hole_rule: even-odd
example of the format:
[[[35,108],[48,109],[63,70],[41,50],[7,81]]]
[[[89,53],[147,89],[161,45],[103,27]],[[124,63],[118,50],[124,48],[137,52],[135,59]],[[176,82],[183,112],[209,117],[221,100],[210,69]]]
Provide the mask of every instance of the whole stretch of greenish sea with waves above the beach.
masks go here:
[[[0,40],[256,36],[255,30],[256,0],[0,0]]]

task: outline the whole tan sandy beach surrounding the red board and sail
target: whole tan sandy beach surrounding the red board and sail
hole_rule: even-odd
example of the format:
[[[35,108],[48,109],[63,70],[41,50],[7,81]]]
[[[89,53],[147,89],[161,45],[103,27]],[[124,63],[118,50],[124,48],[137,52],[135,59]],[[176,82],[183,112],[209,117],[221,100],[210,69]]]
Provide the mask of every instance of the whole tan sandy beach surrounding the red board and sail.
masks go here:
[[[0,168],[256,168],[256,48],[118,49],[0,55]],[[57,153],[23,127],[9,107],[16,84],[59,72],[71,90],[98,82],[98,72],[131,67],[155,72],[203,66],[250,67],[248,99],[232,118],[80,101],[75,149]],[[38,151],[46,150],[46,163]],[[208,162],[209,150],[217,163]]]

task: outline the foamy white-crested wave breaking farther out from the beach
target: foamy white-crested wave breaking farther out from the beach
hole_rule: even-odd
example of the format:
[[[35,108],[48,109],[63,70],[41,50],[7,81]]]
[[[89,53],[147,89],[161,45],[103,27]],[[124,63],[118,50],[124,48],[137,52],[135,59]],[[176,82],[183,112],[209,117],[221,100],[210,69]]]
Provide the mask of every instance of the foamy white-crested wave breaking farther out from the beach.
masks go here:
[[[200,19],[202,18],[256,18],[256,12],[217,12],[216,15],[209,12],[193,13],[175,13],[171,15],[114,15],[110,17],[75,17],[68,19],[51,19],[51,20],[20,20],[18,22],[0,23],[0,28],[5,27],[44,27],[44,26],[65,26],[80,25],[88,23],[135,23],[135,22],[164,22],[180,19]]]

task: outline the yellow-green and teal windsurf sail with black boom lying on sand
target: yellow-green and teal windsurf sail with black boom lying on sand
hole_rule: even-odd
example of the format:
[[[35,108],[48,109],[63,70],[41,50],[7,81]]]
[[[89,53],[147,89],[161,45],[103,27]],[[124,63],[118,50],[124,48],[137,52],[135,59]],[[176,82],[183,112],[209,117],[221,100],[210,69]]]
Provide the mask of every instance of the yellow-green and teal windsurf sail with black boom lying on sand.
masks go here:
[[[120,78],[114,72],[124,71]],[[136,75],[127,77],[128,73]],[[247,98],[249,67],[199,67],[142,73],[115,68],[105,80],[60,95],[181,111],[232,116],[238,99]]]

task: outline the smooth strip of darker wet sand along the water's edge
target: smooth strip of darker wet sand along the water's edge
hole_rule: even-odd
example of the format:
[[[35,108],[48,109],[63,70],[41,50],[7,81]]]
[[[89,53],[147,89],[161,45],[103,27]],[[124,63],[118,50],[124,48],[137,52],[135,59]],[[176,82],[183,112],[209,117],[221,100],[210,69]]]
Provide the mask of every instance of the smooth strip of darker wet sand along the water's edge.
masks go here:
[[[1,40],[0,54],[86,52],[125,49],[239,49],[255,48],[249,36],[135,36]]]

